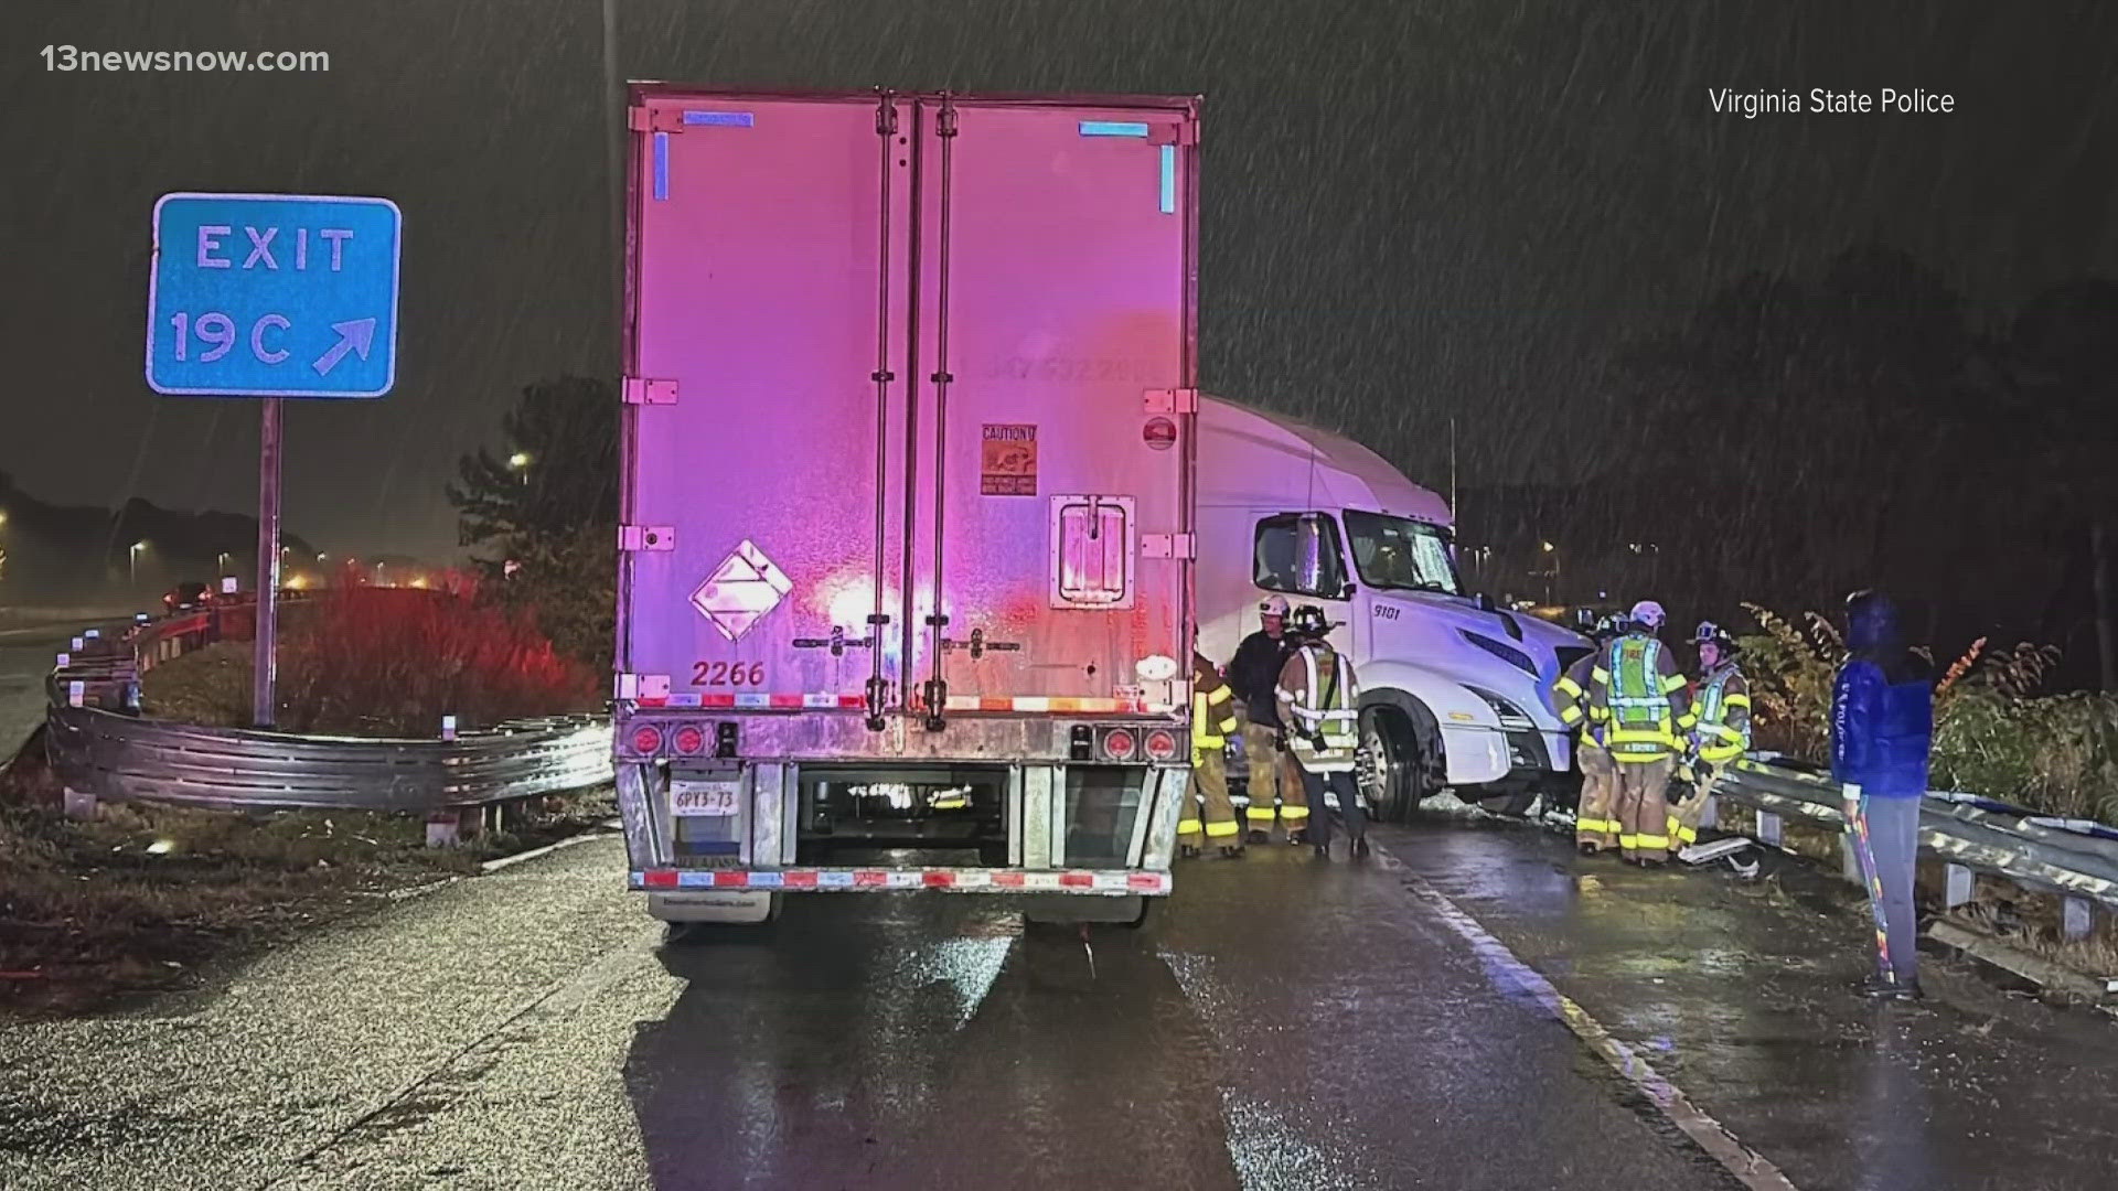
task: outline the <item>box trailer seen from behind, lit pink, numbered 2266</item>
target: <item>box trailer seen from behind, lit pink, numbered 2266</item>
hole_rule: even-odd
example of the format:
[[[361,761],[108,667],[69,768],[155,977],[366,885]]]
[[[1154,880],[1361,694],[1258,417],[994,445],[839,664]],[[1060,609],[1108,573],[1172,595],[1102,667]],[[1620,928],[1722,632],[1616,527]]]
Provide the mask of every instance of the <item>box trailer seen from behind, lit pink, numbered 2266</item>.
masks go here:
[[[1190,797],[1197,97],[633,85],[627,125],[631,888],[1137,924]]]

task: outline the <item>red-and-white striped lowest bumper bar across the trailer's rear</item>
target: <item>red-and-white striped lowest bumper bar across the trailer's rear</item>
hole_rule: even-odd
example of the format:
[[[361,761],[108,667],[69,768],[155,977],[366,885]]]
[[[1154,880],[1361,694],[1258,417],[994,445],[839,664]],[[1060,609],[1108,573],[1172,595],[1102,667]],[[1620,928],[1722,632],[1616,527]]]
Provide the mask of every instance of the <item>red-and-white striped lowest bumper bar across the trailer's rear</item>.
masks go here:
[[[633,890],[765,892],[985,892],[1167,896],[1169,873],[1152,869],[635,869]]]

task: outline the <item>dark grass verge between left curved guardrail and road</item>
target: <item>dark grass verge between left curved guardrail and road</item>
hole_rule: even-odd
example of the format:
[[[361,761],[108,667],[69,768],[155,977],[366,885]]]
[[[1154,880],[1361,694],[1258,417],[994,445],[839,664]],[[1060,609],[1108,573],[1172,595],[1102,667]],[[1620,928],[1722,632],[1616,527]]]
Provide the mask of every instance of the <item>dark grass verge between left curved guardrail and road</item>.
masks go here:
[[[42,735],[0,774],[0,1019],[85,1013],[193,985],[385,894],[608,818],[610,793],[542,799],[504,835],[426,848],[411,816],[106,803],[59,814]]]

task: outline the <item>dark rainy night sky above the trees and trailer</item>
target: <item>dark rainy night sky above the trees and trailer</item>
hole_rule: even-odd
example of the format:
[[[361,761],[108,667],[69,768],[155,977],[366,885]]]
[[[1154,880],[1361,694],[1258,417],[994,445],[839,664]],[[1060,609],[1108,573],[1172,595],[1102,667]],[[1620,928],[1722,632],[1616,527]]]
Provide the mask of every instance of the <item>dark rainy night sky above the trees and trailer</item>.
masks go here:
[[[1205,93],[1205,381],[1444,485],[1578,475],[1620,339],[1881,239],[1997,320],[2118,273],[2112,4],[618,0],[625,76]],[[1652,11],[1654,15],[1644,15]],[[612,373],[597,0],[17,0],[0,59],[0,470],[250,511],[256,407],[140,377],[165,191],[405,210],[392,396],[290,403],[288,530],[445,555],[515,392]],[[47,72],[40,49],[322,49],[328,74]],[[1955,97],[1716,114],[1709,91]],[[493,443],[498,445],[498,443]]]

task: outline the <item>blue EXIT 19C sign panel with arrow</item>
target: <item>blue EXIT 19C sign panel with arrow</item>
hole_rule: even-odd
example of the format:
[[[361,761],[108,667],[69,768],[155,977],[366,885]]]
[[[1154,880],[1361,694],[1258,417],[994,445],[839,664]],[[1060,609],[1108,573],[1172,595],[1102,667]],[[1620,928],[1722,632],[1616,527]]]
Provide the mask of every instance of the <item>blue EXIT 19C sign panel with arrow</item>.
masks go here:
[[[396,381],[390,199],[163,195],[146,384],[193,396],[381,396]]]

